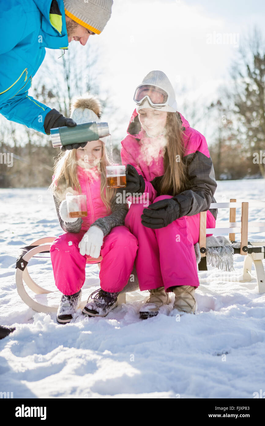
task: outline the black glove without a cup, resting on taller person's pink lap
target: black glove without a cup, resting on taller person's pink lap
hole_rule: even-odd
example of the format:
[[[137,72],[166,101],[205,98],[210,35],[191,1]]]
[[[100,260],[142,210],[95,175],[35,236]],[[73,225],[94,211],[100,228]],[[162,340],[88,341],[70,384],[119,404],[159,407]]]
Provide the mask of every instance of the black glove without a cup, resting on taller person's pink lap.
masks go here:
[[[164,228],[180,217],[180,204],[172,199],[156,201],[142,211],[142,225],[147,228]]]

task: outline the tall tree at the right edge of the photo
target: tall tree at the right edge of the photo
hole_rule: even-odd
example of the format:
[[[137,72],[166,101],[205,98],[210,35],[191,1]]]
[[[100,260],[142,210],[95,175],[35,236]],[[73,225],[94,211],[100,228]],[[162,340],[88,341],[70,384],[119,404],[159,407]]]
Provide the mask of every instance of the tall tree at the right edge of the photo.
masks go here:
[[[257,27],[239,47],[239,55],[231,67],[234,91],[234,113],[238,120],[241,143],[250,157],[265,152],[265,44]],[[257,163],[265,177],[262,158]]]

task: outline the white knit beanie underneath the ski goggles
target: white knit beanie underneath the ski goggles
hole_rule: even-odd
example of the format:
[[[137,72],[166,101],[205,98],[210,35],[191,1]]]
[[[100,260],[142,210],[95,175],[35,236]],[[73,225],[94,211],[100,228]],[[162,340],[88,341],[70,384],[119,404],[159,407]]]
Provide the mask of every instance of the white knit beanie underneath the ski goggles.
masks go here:
[[[139,112],[139,109],[142,108],[153,108],[158,109],[159,111],[177,112],[176,95],[171,82],[168,80],[164,72],[150,71],[143,79],[142,84],[154,84],[154,86],[158,86],[161,89],[166,90],[166,92],[168,92],[168,100],[171,105],[166,105],[165,107],[153,107],[149,104],[148,99],[145,98],[142,104],[137,105],[137,112]]]

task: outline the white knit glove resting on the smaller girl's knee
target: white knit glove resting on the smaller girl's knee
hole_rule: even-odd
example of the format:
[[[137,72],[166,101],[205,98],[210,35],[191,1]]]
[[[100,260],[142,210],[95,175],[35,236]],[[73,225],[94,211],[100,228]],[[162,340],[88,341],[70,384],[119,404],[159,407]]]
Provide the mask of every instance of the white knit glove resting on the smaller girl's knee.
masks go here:
[[[91,226],[88,231],[84,234],[81,239],[78,248],[80,250],[80,254],[84,256],[87,254],[91,257],[99,257],[100,249],[103,245],[104,234],[103,231],[98,226]]]

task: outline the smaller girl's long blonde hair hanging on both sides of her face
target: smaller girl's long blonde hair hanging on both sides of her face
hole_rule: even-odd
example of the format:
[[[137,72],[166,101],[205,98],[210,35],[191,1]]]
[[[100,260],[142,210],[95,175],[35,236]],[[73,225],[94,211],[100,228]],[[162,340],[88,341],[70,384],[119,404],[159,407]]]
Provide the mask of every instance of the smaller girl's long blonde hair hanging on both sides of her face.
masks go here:
[[[106,166],[110,166],[111,163],[108,159],[108,153],[105,148],[105,144],[102,142],[102,151],[100,159],[100,196],[109,211],[111,211],[110,203],[111,199],[115,196],[117,190],[114,188],[108,188],[106,186]],[[57,182],[57,183],[55,183]],[[105,188],[105,194],[104,194]],[[58,155],[54,163],[54,176],[50,190],[54,196],[58,199],[65,199],[66,193],[71,192],[80,194],[82,192],[80,182],[77,176],[77,160],[76,150],[66,150]]]

